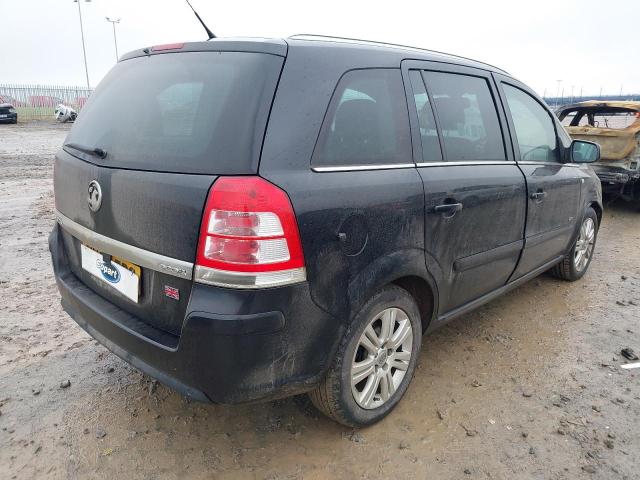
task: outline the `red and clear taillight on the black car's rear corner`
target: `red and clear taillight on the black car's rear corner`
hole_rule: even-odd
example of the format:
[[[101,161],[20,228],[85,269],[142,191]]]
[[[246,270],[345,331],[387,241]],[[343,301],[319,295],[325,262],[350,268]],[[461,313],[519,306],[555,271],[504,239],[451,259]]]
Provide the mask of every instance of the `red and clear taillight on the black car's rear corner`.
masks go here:
[[[287,194],[260,177],[220,177],[204,209],[195,279],[234,288],[306,278],[300,233]]]

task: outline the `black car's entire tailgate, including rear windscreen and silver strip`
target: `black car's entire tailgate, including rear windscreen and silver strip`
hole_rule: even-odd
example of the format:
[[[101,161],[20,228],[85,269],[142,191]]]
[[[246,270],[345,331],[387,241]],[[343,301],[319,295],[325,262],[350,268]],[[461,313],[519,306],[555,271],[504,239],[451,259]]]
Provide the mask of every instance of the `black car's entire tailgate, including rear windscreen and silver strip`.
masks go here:
[[[173,335],[189,300],[189,267],[209,188],[218,175],[257,172],[283,64],[272,53],[194,49],[121,61],[87,102],[56,155],[54,173],[73,273]],[[96,211],[88,201],[94,181],[101,192]],[[117,256],[132,271],[141,267],[137,301],[83,268],[81,244]]]

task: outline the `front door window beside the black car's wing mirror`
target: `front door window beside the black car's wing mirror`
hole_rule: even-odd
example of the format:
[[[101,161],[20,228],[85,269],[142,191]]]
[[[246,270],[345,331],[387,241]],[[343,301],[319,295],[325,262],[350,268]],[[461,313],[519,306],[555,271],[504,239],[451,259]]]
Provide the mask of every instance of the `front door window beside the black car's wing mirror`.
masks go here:
[[[553,119],[531,95],[502,84],[516,130],[520,158],[524,161],[557,162],[558,147]]]

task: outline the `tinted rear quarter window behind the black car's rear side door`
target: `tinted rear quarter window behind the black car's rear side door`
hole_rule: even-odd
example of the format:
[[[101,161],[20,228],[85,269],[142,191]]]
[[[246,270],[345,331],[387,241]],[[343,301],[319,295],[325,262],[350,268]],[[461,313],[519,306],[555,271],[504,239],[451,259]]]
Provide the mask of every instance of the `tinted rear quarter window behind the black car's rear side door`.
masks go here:
[[[400,70],[352,70],[324,119],[313,166],[413,163]]]

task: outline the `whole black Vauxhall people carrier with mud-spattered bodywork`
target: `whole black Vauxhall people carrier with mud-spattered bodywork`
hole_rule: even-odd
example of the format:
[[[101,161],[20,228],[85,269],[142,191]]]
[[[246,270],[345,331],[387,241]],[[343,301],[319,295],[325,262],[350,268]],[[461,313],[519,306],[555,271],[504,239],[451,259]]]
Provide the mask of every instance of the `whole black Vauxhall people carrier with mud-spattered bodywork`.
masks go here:
[[[549,269],[585,273],[597,157],[531,89],[460,57],[148,48],[56,155],[49,246],[65,310],[151,376],[221,403],[310,392],[366,425],[406,391],[423,332]]]

